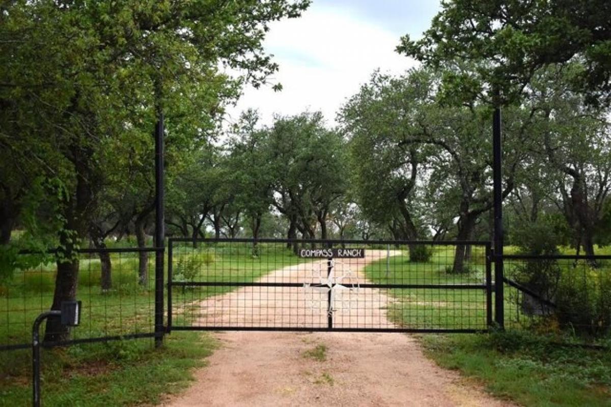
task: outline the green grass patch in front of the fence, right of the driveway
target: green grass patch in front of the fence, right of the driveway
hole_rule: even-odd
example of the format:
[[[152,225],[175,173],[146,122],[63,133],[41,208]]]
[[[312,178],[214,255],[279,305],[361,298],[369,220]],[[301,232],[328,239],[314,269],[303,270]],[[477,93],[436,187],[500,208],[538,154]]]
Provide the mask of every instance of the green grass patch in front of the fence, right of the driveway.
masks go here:
[[[525,406],[611,406],[611,352],[525,331],[420,337],[425,353]]]

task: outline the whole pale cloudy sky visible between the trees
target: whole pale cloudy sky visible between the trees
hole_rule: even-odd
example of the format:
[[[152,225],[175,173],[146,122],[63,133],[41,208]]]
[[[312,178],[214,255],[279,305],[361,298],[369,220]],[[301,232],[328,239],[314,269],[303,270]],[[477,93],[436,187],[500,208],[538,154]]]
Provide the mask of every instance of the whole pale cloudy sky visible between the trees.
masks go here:
[[[274,113],[321,110],[336,124],[340,106],[374,70],[401,74],[414,67],[395,47],[404,34],[420,37],[438,10],[439,0],[313,0],[301,18],[273,23],[264,42],[280,65],[271,83],[283,90],[247,87],[227,120],[248,108],[258,109],[265,124]]]

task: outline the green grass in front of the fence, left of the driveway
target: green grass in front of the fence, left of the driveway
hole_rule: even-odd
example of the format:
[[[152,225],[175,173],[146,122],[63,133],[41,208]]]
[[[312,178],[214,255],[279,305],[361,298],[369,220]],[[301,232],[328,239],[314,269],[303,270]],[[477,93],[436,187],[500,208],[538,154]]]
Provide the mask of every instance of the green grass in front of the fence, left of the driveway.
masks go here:
[[[192,369],[202,367],[215,342],[207,334],[173,333],[163,348],[148,340],[75,345],[43,350],[45,406],[134,406],[161,402],[189,386]],[[0,353],[2,363],[14,361]],[[12,360],[7,360],[12,359]],[[31,405],[29,365],[12,365],[0,375],[0,406]]]

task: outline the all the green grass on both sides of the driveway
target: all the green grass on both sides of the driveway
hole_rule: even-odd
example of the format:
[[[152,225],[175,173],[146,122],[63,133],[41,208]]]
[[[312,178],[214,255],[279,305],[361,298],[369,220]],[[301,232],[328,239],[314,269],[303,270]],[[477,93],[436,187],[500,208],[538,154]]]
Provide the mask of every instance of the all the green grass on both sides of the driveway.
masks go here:
[[[513,251],[508,248],[509,252]],[[253,255],[255,254],[255,255]],[[602,254],[602,253],[601,253]],[[474,248],[469,273],[448,273],[453,247],[437,247],[429,262],[409,261],[406,251],[370,264],[365,273],[376,283],[483,284],[483,250]],[[254,281],[271,270],[306,261],[282,245],[177,245],[175,281]],[[153,261],[148,283],[137,279],[134,254],[113,254],[113,288],[100,289],[100,261],[84,256],[79,299],[82,325],[74,337],[145,333],[153,329]],[[31,323],[48,309],[53,296],[54,264],[17,272],[0,284],[0,342],[29,342]],[[175,303],[189,303],[231,290],[229,286],[175,287]],[[390,290],[388,314],[418,328],[483,329],[483,290]],[[516,304],[508,295],[506,319]],[[189,315],[174,315],[189,323]],[[524,405],[611,405],[611,352],[558,345],[558,338],[524,331],[478,335],[426,335],[426,352],[441,366],[458,369],[500,397]],[[162,394],[188,386],[191,369],[202,366],[214,348],[209,336],[174,332],[161,350],[152,340],[123,340],[43,351],[43,400],[46,405],[108,406],[156,403]],[[0,406],[29,405],[29,350],[0,352]]]

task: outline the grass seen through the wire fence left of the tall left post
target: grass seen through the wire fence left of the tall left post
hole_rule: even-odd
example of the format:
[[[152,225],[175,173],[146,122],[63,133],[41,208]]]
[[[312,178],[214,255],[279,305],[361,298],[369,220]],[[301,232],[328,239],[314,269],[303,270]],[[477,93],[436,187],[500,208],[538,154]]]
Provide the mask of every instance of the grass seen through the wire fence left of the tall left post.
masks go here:
[[[73,338],[150,332],[155,303],[152,256],[148,265],[148,283],[141,286],[137,280],[137,259],[125,254],[113,255],[113,288],[103,292],[100,261],[82,259],[77,294],[82,301],[81,325],[73,329]],[[53,301],[55,272],[52,267],[41,265],[15,273],[0,286],[1,344],[30,342],[32,322]]]

